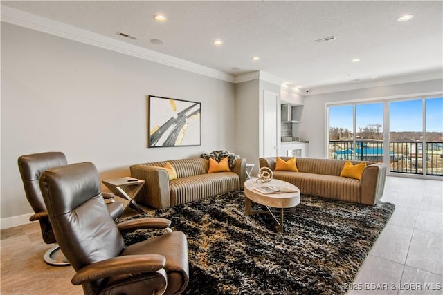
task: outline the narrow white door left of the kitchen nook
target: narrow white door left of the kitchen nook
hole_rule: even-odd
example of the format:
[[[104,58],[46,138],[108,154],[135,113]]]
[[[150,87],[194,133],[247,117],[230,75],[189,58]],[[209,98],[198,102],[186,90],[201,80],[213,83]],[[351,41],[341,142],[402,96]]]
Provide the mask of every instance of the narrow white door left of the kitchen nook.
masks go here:
[[[264,157],[277,156],[278,94],[264,91]]]

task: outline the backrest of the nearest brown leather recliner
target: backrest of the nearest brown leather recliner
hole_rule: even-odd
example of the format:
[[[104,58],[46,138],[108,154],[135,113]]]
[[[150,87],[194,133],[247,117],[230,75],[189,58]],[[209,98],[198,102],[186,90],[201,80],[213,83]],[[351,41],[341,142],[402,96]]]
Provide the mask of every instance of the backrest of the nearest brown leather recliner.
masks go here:
[[[120,254],[123,237],[107,211],[94,164],[49,169],[40,188],[55,238],[75,270]]]

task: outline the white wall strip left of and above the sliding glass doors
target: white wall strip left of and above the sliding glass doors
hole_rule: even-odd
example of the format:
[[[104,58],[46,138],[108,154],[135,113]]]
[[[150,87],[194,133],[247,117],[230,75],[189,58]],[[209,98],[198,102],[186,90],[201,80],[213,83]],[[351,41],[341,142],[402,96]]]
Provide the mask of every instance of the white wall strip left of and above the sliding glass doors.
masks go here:
[[[309,157],[326,158],[326,113],[325,104],[328,102],[346,102],[359,99],[390,99],[405,95],[442,92],[443,79],[433,79],[422,82],[412,82],[390,86],[364,88],[353,91],[341,91],[305,97],[300,138],[309,141]]]

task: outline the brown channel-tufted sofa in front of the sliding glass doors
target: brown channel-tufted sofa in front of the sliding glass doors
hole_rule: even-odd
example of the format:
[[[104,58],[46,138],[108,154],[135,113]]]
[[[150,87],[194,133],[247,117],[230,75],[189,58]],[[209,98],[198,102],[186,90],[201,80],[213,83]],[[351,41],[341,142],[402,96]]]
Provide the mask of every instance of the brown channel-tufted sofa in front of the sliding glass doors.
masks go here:
[[[280,157],[287,161],[290,157]],[[275,169],[276,158],[260,158],[260,168]],[[361,180],[340,177],[346,160],[296,158],[299,172],[273,171],[274,178],[296,185],[301,193],[374,205],[383,195],[386,165],[366,162]],[[351,161],[359,164],[361,161]]]

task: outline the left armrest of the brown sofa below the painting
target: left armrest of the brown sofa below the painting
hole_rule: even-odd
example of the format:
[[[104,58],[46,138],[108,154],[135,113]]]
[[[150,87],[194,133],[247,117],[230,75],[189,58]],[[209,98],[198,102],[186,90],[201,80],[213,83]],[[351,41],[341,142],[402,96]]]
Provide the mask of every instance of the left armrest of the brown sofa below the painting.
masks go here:
[[[133,178],[145,180],[145,185],[136,196],[136,201],[154,208],[171,206],[169,175],[165,169],[136,164],[130,166],[130,170]]]

